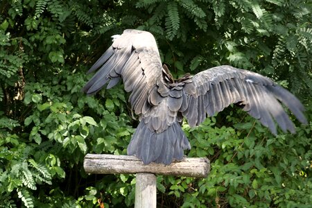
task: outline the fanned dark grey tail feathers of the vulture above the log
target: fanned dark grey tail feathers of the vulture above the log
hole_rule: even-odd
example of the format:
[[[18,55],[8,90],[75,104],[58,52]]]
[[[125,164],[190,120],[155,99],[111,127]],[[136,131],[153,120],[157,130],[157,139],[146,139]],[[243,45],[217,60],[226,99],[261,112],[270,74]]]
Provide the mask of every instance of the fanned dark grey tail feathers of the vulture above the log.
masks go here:
[[[183,150],[190,148],[189,141],[177,121],[164,132],[157,134],[150,131],[142,119],[132,136],[127,152],[128,155],[137,155],[144,164],[171,164],[173,159],[182,159]]]

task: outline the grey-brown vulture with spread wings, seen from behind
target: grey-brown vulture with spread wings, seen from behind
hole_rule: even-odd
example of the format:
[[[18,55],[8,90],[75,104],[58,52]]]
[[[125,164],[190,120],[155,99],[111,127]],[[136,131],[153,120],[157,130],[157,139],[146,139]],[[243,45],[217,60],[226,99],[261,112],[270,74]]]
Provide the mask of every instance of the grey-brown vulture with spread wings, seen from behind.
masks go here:
[[[175,80],[162,65],[151,33],[128,29],[113,35],[113,43],[89,69],[97,72],[83,87],[92,95],[104,86],[114,87],[122,79],[130,93],[132,111],[139,125],[127,148],[144,164],[171,164],[180,160],[191,146],[180,126],[183,117],[191,127],[200,125],[231,103],[240,105],[250,116],[277,135],[275,123],[284,132],[295,132],[281,104],[301,123],[307,123],[304,106],[283,87],[259,73],[223,65],[189,73]]]

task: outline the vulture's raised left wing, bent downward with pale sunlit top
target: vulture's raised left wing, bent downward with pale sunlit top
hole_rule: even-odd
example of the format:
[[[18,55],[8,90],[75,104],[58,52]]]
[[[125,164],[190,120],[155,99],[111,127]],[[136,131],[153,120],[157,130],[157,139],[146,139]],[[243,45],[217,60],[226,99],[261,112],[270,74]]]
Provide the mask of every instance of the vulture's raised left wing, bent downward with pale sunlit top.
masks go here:
[[[107,89],[114,87],[122,78],[125,91],[131,92],[129,101],[132,109],[141,114],[150,90],[162,76],[162,62],[155,38],[148,32],[137,30],[125,30],[122,35],[113,37],[110,49],[88,71],[100,68],[83,91],[95,94],[107,83]]]

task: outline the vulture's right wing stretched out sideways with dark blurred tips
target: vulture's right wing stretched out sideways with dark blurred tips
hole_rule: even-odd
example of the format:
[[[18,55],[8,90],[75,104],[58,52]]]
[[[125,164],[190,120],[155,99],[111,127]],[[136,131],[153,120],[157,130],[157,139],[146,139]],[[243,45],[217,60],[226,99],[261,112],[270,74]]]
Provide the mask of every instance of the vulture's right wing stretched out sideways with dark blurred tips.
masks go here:
[[[284,111],[282,104],[293,112],[299,121],[306,123],[304,107],[283,87],[258,73],[220,66],[193,76],[193,82],[184,87],[187,108],[182,114],[189,125],[199,125],[206,114],[213,116],[231,103],[239,103],[243,110],[277,134],[275,122],[281,130],[295,132],[295,126]]]

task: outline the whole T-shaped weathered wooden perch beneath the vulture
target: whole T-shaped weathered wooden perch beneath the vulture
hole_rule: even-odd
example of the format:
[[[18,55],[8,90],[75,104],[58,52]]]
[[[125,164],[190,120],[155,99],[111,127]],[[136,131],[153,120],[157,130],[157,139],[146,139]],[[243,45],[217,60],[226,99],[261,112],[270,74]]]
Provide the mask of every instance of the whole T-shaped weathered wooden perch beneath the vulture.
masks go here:
[[[87,154],[83,162],[86,173],[137,174],[135,184],[135,208],[156,207],[156,176],[175,175],[186,177],[207,177],[210,171],[209,159],[184,157],[169,165],[151,163],[144,165],[141,159],[126,155]]]

